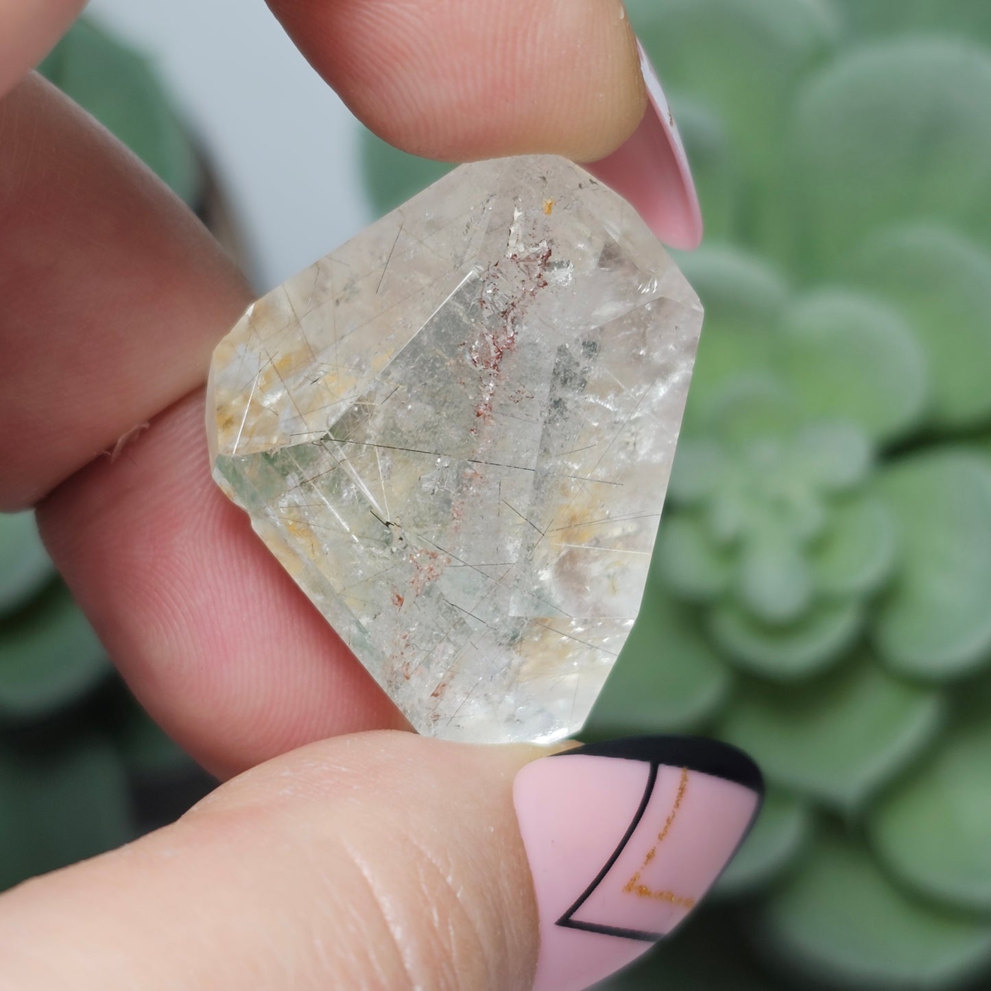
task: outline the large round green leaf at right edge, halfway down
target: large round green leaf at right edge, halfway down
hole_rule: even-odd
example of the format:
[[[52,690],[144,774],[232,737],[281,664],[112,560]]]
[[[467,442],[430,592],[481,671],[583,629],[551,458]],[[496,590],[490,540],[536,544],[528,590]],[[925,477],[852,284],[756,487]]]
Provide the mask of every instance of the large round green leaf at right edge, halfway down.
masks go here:
[[[884,473],[901,568],[874,616],[892,670],[953,678],[991,660],[991,461],[944,449]]]

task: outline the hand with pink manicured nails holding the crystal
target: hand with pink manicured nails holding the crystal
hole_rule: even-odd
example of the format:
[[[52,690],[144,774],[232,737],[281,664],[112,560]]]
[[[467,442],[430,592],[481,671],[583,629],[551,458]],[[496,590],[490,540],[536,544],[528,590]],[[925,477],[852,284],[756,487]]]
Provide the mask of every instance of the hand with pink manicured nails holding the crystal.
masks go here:
[[[246,773],[174,826],[0,898],[0,987],[527,987],[547,824],[572,810],[549,835],[574,834],[581,889],[609,852],[608,824],[581,852],[590,817],[630,821],[641,798],[685,792],[683,775],[693,801],[669,845],[701,891],[755,803],[758,780],[730,751],[714,764],[705,747],[650,744],[603,777],[610,756],[530,763],[544,751],[381,731],[312,742],[404,723],[210,479],[202,382],[251,301],[243,277],[85,114],[22,78],[82,5],[0,0],[0,507],[37,505],[56,564],[165,729],[219,776]],[[271,6],[373,130],[422,155],[598,160],[643,117],[618,0]],[[687,166],[651,120],[634,149],[660,149],[641,208],[691,234]],[[144,422],[127,457],[104,456]],[[647,945],[565,935],[590,980]]]

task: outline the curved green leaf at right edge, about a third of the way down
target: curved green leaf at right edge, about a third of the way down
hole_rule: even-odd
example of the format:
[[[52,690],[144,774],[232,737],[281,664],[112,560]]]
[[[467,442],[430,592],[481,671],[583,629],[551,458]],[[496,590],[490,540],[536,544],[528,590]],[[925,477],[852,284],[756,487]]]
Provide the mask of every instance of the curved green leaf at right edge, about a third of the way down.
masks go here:
[[[991,416],[991,254],[939,227],[899,227],[857,252],[848,277],[912,329],[929,369],[930,419],[959,427]]]

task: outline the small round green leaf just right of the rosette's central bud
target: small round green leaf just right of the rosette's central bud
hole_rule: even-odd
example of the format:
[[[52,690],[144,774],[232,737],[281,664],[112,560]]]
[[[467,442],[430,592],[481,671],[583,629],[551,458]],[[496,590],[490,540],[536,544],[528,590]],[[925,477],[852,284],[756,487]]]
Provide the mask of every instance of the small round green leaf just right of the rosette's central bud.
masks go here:
[[[811,550],[816,589],[830,597],[869,595],[891,576],[897,547],[894,520],[882,500],[854,495],[836,502]]]

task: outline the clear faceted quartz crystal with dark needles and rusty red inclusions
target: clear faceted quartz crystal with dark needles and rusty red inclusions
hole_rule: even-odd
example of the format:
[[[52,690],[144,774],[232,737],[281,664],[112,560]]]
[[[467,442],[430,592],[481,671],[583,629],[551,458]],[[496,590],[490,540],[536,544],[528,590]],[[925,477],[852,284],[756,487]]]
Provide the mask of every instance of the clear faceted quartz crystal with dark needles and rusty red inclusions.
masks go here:
[[[214,476],[421,733],[574,732],[640,606],[702,324],[577,165],[463,165],[218,346]]]

